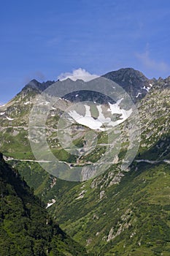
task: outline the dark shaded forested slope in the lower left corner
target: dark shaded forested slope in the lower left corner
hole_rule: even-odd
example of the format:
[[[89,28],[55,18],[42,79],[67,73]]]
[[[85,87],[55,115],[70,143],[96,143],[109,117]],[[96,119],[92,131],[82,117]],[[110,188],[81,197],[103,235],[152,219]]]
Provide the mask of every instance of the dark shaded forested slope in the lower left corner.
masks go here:
[[[86,255],[0,155],[0,255]]]

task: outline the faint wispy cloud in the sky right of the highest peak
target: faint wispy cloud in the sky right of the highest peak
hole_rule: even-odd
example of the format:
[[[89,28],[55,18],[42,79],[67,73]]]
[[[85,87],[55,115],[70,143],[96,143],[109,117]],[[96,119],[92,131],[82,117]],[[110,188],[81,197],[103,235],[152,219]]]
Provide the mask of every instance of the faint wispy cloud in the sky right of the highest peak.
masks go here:
[[[149,50],[146,50],[144,53],[136,53],[136,57],[142,61],[144,67],[148,69],[152,69],[155,71],[160,72],[167,72],[169,71],[170,67],[163,61],[155,61],[154,59],[150,58]]]

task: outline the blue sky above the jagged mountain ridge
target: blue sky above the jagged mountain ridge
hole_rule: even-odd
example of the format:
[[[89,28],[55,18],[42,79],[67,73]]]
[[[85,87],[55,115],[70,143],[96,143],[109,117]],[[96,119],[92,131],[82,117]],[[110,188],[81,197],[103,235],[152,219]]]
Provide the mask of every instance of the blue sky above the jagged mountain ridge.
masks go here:
[[[80,67],[170,75],[169,0],[1,1],[0,102]]]

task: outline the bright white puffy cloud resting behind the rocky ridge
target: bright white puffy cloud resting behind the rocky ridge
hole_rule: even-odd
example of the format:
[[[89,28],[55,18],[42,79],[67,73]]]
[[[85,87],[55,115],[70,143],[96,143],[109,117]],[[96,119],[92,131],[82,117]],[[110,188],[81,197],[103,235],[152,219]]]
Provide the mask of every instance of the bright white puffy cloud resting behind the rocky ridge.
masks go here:
[[[70,78],[73,81],[76,81],[77,79],[81,79],[87,82],[87,81],[93,80],[94,78],[98,78],[98,75],[91,75],[88,71],[80,67],[79,69],[74,69],[72,73],[66,72],[66,73],[61,73],[61,75],[58,75],[58,79],[61,81],[66,80],[67,78]]]

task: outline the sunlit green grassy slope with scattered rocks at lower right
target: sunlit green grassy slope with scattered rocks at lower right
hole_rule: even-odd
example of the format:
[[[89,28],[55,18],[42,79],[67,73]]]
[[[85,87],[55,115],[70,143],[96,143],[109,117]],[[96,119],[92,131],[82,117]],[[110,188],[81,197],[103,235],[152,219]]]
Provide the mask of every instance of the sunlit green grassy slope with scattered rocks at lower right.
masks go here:
[[[75,200],[82,189],[74,187],[64,195],[58,211],[51,208],[63,229],[95,255],[170,254],[169,165],[136,167],[119,185],[103,187],[101,200],[100,186],[92,189],[88,182],[83,198]],[[112,239],[107,242],[110,232]]]

